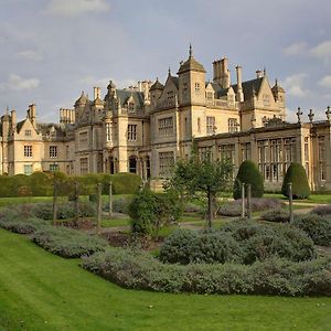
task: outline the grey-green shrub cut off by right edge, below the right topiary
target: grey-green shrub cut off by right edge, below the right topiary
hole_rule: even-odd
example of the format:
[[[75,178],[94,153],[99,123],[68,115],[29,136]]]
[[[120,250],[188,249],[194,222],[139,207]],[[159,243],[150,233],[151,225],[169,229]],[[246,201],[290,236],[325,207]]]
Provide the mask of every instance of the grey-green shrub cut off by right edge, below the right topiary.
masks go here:
[[[316,245],[331,246],[331,217],[317,214],[296,216],[293,225],[305,231]]]

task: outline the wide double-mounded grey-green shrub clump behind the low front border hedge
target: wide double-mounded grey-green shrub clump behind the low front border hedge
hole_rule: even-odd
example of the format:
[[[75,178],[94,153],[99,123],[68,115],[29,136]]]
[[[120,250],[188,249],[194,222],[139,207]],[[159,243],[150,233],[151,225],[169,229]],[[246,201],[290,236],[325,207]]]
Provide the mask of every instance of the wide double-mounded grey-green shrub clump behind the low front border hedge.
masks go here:
[[[298,228],[247,221],[231,222],[209,232],[179,229],[167,237],[160,248],[162,261],[180,264],[253,264],[274,256],[301,261],[317,254],[311,238]]]

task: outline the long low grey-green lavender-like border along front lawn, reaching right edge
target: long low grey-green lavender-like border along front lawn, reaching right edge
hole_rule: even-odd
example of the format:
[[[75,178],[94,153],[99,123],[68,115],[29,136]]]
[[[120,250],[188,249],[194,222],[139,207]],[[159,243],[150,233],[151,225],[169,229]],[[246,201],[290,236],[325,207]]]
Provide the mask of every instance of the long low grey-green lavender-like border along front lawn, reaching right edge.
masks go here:
[[[83,268],[132,289],[162,292],[331,296],[330,260],[273,258],[235,264],[166,265],[141,250],[107,248],[83,258]]]

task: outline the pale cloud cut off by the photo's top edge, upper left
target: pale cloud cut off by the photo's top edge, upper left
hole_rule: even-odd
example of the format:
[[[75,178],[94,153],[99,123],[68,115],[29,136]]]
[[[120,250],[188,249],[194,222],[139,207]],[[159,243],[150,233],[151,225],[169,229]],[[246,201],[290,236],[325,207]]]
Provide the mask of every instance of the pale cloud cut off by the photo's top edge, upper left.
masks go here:
[[[51,0],[44,12],[60,17],[78,17],[85,13],[105,12],[109,8],[106,0]]]

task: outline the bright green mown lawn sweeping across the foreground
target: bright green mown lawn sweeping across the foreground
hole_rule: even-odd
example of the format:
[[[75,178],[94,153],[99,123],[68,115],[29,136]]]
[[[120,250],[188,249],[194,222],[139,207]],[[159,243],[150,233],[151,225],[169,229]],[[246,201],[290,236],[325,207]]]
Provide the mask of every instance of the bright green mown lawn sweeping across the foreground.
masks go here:
[[[330,298],[122,289],[0,229],[0,330],[330,330]]]

